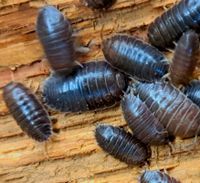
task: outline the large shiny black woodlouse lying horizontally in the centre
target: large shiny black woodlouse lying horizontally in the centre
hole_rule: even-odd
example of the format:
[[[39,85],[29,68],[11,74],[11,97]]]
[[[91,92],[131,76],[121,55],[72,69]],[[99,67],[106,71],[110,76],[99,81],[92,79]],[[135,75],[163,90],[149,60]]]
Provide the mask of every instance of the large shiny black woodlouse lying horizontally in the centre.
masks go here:
[[[126,89],[126,78],[106,62],[89,62],[70,76],[51,76],[43,86],[44,100],[63,112],[82,112],[115,105]]]

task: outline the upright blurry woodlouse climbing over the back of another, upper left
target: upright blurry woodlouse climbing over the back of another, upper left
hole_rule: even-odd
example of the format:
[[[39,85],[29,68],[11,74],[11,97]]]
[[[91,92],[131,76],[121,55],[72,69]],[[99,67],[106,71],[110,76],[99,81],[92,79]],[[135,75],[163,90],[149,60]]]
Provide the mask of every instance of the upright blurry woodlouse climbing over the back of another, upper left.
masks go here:
[[[52,70],[70,73],[75,65],[70,22],[53,6],[45,6],[39,12],[36,32]]]

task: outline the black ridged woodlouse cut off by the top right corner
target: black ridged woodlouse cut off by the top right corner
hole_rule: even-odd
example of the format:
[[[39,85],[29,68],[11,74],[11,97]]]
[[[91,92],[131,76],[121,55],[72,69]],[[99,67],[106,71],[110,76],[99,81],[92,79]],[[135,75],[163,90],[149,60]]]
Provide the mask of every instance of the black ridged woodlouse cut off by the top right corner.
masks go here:
[[[200,28],[200,1],[182,0],[156,18],[148,28],[148,37],[154,46],[172,46],[183,32]]]

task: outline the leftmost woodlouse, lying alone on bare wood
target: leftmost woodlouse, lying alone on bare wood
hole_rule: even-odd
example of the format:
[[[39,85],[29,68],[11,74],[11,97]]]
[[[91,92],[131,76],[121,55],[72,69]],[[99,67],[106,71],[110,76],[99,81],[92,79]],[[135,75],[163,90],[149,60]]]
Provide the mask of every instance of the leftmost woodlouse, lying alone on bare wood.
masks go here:
[[[11,115],[28,136],[40,142],[50,137],[52,131],[49,115],[28,88],[11,82],[4,87],[3,98]]]

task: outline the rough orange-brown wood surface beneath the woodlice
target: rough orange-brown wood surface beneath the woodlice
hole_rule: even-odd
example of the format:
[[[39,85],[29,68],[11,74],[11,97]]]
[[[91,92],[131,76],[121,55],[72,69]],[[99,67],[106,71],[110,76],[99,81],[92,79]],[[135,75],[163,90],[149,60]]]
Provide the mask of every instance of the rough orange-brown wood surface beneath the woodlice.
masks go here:
[[[2,0],[0,2],[0,87],[11,80],[23,82],[40,95],[40,86],[49,68],[34,27],[38,8],[45,3],[57,5],[69,17],[79,44],[91,51],[78,55],[85,62],[102,58],[100,34],[126,32],[146,39],[147,25],[175,0],[118,0],[106,12],[93,12],[78,0]],[[171,55],[169,54],[169,57]],[[195,77],[200,75],[197,70]],[[22,133],[8,114],[0,91],[0,182],[137,182],[145,169],[166,169],[186,183],[200,181],[200,147],[190,146],[193,139],[176,140],[174,153],[168,146],[152,148],[150,167],[128,167],[105,154],[94,140],[93,130],[101,121],[125,126],[120,107],[102,112],[60,114],[60,132],[45,144]]]

